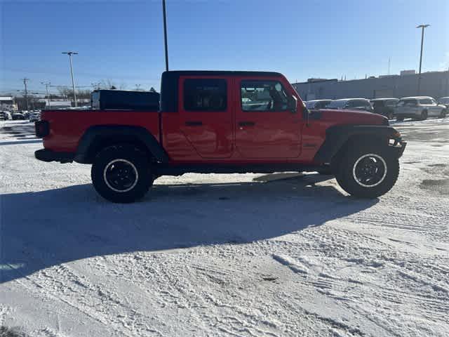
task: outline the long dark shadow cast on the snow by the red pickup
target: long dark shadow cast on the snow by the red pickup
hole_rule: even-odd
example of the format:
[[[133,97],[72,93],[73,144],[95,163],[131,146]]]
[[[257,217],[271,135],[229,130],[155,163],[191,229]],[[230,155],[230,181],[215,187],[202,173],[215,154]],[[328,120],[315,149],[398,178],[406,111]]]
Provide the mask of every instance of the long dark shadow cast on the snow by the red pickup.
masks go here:
[[[377,203],[344,196],[328,183],[320,185],[328,176],[266,177],[272,181],[156,181],[135,204],[109,203],[90,184],[3,194],[0,282],[91,256],[279,237]]]

